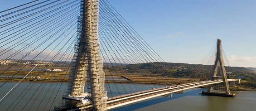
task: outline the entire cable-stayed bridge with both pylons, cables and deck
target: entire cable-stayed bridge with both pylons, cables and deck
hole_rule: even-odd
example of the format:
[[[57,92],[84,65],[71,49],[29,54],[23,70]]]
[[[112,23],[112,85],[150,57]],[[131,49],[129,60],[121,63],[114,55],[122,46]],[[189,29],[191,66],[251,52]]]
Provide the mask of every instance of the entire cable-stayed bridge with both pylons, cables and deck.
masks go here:
[[[105,111],[206,85],[209,91],[203,94],[234,97],[229,86],[240,82],[240,79],[227,78],[221,39],[217,39],[217,48],[208,53],[209,59],[203,60],[212,67],[207,74],[209,80],[198,80],[203,65],[198,65],[194,72],[179,81],[161,74],[145,74],[155,66],[164,67],[161,64],[164,60],[106,0],[34,0],[0,14],[0,62],[3,67],[0,75],[11,73],[11,77],[0,84],[1,90],[23,73],[23,77],[1,95],[0,106],[5,106],[4,110]],[[27,62],[13,71],[23,60]],[[37,63],[32,65],[34,61]],[[8,62],[10,64],[6,65]],[[52,62],[56,63],[52,65]],[[129,72],[130,64],[142,63],[149,63],[144,66],[145,70],[137,68]],[[65,72],[47,72],[58,68]],[[38,80],[39,76],[44,79],[39,86],[35,85],[36,81],[29,81],[20,89],[20,84],[27,82],[26,78],[31,75]],[[140,84],[125,87],[120,80],[119,86],[110,87],[109,82],[105,83],[105,80],[120,79],[119,76]],[[56,78],[58,83],[54,85],[51,79]],[[152,88],[152,84],[145,83],[155,84]],[[60,92],[63,85],[65,90]],[[126,93],[122,94],[120,88]],[[113,90],[119,96],[113,95]],[[10,99],[17,91],[19,96]],[[56,105],[58,97],[63,99]]]

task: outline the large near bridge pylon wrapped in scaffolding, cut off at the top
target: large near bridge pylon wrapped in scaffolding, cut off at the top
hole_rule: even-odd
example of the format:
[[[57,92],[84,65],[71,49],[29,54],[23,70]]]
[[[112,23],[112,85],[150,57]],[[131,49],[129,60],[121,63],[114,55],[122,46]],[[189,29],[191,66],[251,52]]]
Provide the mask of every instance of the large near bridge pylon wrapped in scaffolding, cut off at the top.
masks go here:
[[[68,104],[82,106],[90,101],[95,111],[106,109],[105,73],[102,71],[102,59],[98,37],[99,0],[81,0],[78,17],[76,53],[69,77],[68,94],[63,97]],[[84,89],[85,85],[86,90]],[[77,97],[84,101],[74,104]],[[77,103],[77,102],[76,102]],[[89,104],[89,103],[88,103]]]

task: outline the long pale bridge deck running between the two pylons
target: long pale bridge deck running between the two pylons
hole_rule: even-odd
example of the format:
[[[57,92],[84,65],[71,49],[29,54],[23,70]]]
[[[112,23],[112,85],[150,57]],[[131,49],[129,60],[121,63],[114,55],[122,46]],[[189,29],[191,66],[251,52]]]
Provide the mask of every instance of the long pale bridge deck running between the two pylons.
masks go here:
[[[231,81],[240,81],[241,79],[227,79],[228,82]],[[215,81],[202,81],[202,82],[192,82],[192,83],[186,83],[182,85],[175,85],[171,86],[170,88],[168,87],[161,87],[157,89],[152,89],[152,90],[147,90],[147,91],[142,91],[142,92],[135,92],[131,94],[126,94],[126,95],[121,95],[117,97],[111,97],[107,100],[107,107],[106,110],[116,108],[119,106],[124,106],[128,105],[131,103],[135,103],[138,101],[143,101],[146,99],[154,98],[154,97],[159,97],[159,96],[164,96],[166,94],[170,94],[171,92],[179,92],[195,87],[202,87],[206,85],[211,85],[211,84],[217,84],[223,82],[222,79],[220,80],[215,80]],[[82,107],[78,109],[85,109],[88,107],[91,107],[91,104],[86,104],[86,105],[81,105]],[[77,110],[78,110],[77,109]]]

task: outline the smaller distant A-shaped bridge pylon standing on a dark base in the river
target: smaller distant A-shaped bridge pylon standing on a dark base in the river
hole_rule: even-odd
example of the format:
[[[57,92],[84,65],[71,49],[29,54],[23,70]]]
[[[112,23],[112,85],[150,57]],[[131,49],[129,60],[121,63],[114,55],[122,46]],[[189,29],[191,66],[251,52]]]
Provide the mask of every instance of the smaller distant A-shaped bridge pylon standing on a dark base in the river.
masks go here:
[[[218,68],[220,71],[218,71]],[[217,73],[220,72],[221,76],[217,76]],[[214,68],[212,72],[212,81],[217,80],[217,78],[222,78],[223,80],[223,87],[224,87],[224,93],[223,92],[214,92],[214,85],[209,86],[209,90],[206,92],[202,92],[202,94],[207,95],[215,95],[215,96],[223,96],[223,97],[234,97],[235,94],[231,94],[229,89],[229,84],[227,82],[227,72],[224,67],[224,61],[222,57],[222,42],[221,39],[217,39],[217,53],[216,53],[216,59],[214,63]]]

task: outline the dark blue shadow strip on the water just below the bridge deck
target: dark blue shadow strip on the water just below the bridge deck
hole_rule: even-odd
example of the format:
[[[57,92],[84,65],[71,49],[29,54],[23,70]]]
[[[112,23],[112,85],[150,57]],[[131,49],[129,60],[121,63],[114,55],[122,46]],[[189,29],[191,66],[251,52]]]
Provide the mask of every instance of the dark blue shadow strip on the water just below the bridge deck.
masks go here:
[[[126,106],[122,106],[122,107],[118,107],[115,109],[112,109],[110,111],[133,111],[133,110],[138,110],[140,108],[143,107],[147,107],[147,106],[151,106],[151,105],[155,105],[161,102],[165,102],[165,101],[172,101],[174,99],[178,99],[180,97],[186,97],[186,96],[204,96],[202,95],[202,91],[208,90],[207,88],[197,88],[197,89],[189,89],[189,90],[185,90],[184,94],[173,94],[173,97],[155,97],[152,99],[148,99],[145,101],[140,101],[140,102],[136,102],[130,105],[126,105]]]

